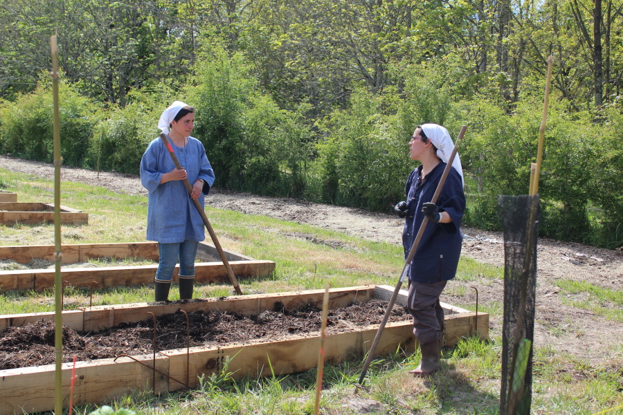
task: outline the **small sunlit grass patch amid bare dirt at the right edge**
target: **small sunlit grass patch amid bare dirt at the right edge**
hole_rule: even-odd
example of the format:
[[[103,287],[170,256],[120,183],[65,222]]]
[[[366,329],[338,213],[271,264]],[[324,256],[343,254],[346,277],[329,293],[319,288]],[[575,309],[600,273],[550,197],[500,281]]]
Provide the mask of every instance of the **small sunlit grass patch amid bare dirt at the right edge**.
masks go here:
[[[572,279],[559,279],[556,284],[566,293],[586,293],[586,298],[583,299],[561,297],[563,304],[583,308],[607,320],[623,322],[623,291],[615,291]]]

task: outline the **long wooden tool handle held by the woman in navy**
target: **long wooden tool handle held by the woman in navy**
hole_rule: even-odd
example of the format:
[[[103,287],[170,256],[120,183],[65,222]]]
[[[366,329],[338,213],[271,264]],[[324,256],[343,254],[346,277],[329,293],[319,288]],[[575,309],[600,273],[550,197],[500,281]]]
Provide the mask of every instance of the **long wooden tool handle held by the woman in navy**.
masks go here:
[[[437,185],[437,189],[435,190],[435,193],[433,194],[433,200],[431,201],[432,203],[437,203],[437,199],[439,199],[439,195],[441,194],[442,188],[444,187],[444,183],[446,183],[446,178],[448,177],[448,174],[450,173],[452,162],[454,161],[454,158],[456,156],[456,151],[458,150],[458,147],[461,143],[461,140],[463,139],[463,135],[466,129],[467,129],[467,126],[465,125],[461,127],[461,131],[459,133],[458,138],[456,139],[454,149],[452,150],[452,153],[450,154],[450,157],[448,158],[448,163],[446,164],[446,168],[444,169],[444,172],[440,178],[439,184]],[[381,334],[383,333],[383,329],[385,329],[387,320],[389,320],[390,313],[392,311],[394,303],[396,302],[396,298],[398,297],[398,293],[400,291],[400,287],[402,286],[402,282],[404,281],[405,277],[408,276],[409,265],[411,264],[411,261],[413,261],[413,257],[415,256],[415,251],[417,250],[417,246],[419,246],[419,241],[422,240],[422,235],[424,235],[424,230],[426,229],[426,225],[428,225],[428,216],[424,216],[422,225],[419,225],[419,230],[417,231],[417,235],[415,236],[415,241],[413,241],[413,245],[411,246],[411,249],[409,250],[409,255],[407,256],[407,259],[404,261],[404,268],[402,268],[400,279],[398,280],[398,283],[396,284],[396,288],[394,289],[394,292],[392,293],[392,297],[390,298],[390,301],[387,304],[385,315],[383,315],[383,320],[381,320],[381,324],[379,325],[379,329],[377,330],[377,335],[374,336],[374,341],[372,342],[370,351],[368,351],[368,357],[365,359],[365,363],[363,364],[363,369],[361,369],[361,376],[359,376],[359,385],[363,385],[363,379],[365,378],[365,374],[368,371],[370,362],[372,362],[372,356],[374,356],[374,351],[377,349],[377,344],[379,344],[379,340],[381,340]],[[478,324],[478,322],[476,322],[476,324]]]

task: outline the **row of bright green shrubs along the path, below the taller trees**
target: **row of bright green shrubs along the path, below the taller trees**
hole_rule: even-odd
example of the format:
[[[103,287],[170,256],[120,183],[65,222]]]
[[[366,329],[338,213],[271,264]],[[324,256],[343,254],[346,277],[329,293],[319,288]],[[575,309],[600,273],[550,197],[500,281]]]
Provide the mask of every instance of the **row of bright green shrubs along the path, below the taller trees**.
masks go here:
[[[408,158],[411,133],[419,123],[437,122],[453,138],[462,124],[468,127],[460,150],[470,194],[465,225],[499,229],[497,195],[528,192],[541,123],[536,99],[516,104],[512,113],[484,97],[452,102],[439,73],[406,68],[401,91],[356,90],[347,109],[312,126],[309,107],[286,111],[258,91],[241,55],[213,46],[199,62],[176,96],[134,95],[123,109],[89,102],[62,84],[64,164],[138,173],[162,109],[181,99],[197,107],[193,135],[204,142],[219,187],[389,211],[404,198],[404,181],[415,167]],[[620,112],[570,114],[552,104],[539,192],[542,236],[622,245]],[[49,85],[0,104],[0,151],[52,161]]]

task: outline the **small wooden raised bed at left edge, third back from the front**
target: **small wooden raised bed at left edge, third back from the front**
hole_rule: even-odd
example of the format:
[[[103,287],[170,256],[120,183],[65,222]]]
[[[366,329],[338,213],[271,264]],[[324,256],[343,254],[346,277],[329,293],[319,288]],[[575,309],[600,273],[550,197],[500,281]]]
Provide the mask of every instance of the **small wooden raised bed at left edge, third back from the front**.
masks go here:
[[[89,214],[81,210],[60,206],[61,223],[66,225],[86,225]],[[0,225],[54,222],[54,203],[0,202]]]

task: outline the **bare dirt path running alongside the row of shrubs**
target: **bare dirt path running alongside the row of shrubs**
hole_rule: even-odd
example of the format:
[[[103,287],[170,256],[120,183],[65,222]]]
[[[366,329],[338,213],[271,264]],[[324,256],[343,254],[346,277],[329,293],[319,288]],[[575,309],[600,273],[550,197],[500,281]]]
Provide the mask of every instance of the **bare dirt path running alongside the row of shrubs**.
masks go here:
[[[53,178],[50,164],[0,156],[0,167],[13,172]],[[113,192],[147,194],[137,176],[96,172],[63,167],[62,180],[77,181],[106,187]],[[307,223],[352,234],[374,241],[400,243],[402,221],[390,214],[361,209],[341,208],[296,199],[269,198],[248,193],[213,190],[206,203],[214,208],[236,210],[248,214],[264,214],[298,223]],[[503,235],[499,232],[463,228],[465,239],[462,255],[476,261],[503,266]],[[614,347],[623,339],[623,322],[606,320],[584,308],[568,305],[582,302],[586,293],[572,295],[558,286],[559,279],[584,281],[595,286],[623,289],[623,252],[539,239],[538,282],[536,288],[535,345],[548,344],[559,353],[571,353],[593,364],[612,356]],[[501,304],[503,282],[482,279],[473,285],[478,288],[480,304]],[[444,297],[445,302],[460,304],[475,302],[475,296]],[[602,304],[613,307],[615,304]],[[501,310],[498,313],[501,315]],[[501,328],[501,317],[491,320],[491,328]]]

